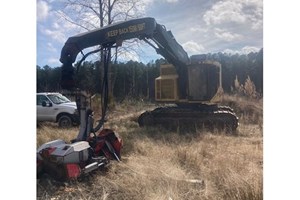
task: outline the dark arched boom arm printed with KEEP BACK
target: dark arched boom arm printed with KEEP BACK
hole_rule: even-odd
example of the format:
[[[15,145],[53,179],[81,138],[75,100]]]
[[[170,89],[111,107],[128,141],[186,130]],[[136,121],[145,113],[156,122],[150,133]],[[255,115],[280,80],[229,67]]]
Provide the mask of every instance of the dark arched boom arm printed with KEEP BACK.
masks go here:
[[[75,62],[78,53],[85,48],[96,45],[109,47],[132,38],[146,41],[151,39],[157,45],[157,53],[174,66],[185,66],[190,62],[187,53],[177,43],[171,31],[167,31],[163,25],[156,23],[155,19],[150,17],[119,22],[70,37],[62,48],[60,61],[70,65]]]

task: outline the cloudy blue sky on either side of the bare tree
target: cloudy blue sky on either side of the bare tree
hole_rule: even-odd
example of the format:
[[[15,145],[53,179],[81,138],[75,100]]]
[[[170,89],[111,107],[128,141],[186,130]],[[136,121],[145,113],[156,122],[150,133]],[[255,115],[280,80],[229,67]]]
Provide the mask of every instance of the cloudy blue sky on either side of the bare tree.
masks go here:
[[[60,66],[62,46],[83,30],[58,17],[62,0],[37,0],[37,65]],[[262,0],[143,0],[144,16],[171,30],[189,56],[201,53],[249,53],[263,47]],[[159,58],[145,47],[129,59]]]

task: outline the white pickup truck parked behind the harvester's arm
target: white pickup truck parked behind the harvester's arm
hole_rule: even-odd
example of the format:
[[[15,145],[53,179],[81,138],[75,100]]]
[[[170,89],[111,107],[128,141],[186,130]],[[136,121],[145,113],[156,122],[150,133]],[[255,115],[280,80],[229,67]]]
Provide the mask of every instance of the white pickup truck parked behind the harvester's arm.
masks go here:
[[[79,124],[79,114],[75,102],[60,93],[37,93],[37,121],[55,122],[60,127]]]

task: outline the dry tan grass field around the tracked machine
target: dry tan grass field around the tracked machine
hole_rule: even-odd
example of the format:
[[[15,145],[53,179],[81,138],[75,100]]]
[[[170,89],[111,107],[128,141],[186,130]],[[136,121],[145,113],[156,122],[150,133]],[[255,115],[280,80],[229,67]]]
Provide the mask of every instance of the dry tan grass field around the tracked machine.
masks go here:
[[[262,100],[226,96],[223,104],[239,116],[234,135],[140,128],[136,118],[155,105],[116,104],[105,127],[123,139],[122,161],[78,181],[60,183],[44,175],[36,181],[37,199],[263,199]],[[70,141],[77,133],[78,127],[41,124],[37,147],[58,138]]]

